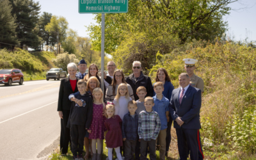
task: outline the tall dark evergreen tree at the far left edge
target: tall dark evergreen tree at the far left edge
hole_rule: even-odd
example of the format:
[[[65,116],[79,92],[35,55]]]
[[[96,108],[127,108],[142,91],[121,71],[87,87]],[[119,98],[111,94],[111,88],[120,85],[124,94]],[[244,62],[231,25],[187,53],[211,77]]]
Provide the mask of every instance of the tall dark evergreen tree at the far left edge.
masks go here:
[[[15,37],[17,24],[15,24],[15,17],[11,13],[12,5],[8,0],[1,0],[0,8],[0,48],[13,49],[15,45],[19,45],[19,41]]]

